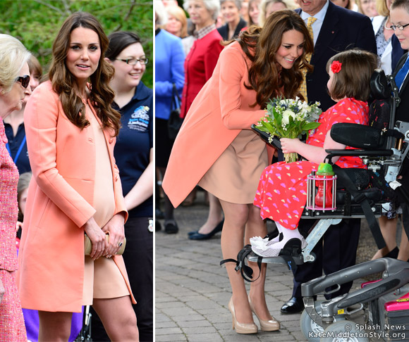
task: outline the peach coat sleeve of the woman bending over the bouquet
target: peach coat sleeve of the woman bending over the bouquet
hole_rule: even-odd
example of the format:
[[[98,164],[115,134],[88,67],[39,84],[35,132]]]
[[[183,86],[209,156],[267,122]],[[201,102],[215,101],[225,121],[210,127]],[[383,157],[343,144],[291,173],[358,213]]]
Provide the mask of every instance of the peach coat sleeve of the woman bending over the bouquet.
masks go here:
[[[265,110],[241,108],[240,83],[248,72],[245,59],[237,49],[226,49],[220,55],[220,106],[221,119],[228,129],[250,129],[265,113]],[[245,89],[245,91],[253,91]]]

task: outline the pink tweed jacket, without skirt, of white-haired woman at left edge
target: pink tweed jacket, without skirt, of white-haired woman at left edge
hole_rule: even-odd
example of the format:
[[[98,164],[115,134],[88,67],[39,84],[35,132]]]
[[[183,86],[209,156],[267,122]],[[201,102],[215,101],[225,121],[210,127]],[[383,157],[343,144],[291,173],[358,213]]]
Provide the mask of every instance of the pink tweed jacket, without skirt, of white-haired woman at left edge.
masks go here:
[[[0,269],[16,271],[18,170],[6,149],[7,138],[1,118],[0,139]]]

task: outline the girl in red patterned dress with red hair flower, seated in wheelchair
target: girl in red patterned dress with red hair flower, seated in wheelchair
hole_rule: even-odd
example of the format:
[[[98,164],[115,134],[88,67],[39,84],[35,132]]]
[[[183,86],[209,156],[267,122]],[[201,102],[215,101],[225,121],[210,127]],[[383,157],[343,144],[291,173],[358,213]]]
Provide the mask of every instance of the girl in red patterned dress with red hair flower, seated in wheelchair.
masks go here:
[[[324,162],[326,149],[351,148],[331,139],[332,125],[338,122],[367,125],[370,78],[377,65],[376,55],[358,49],[343,51],[329,59],[327,87],[336,104],[320,115],[321,125],[310,132],[306,143],[281,138],[283,153],[295,152],[304,160],[274,163],[260,177],[254,205],[260,208],[263,219],[274,220],[280,234],[270,241],[259,236],[250,239],[256,254],[272,257],[280,255],[283,248],[305,247],[298,222],[307,201],[307,175]],[[358,157],[336,157],[332,162],[339,167],[365,167]]]

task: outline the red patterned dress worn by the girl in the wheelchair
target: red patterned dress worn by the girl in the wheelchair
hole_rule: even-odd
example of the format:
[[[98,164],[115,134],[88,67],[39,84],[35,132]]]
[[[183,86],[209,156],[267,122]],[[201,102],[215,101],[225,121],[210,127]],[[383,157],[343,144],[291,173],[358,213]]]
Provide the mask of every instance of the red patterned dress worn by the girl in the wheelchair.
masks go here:
[[[368,112],[368,105],[364,101],[352,98],[339,101],[319,116],[318,122],[321,125],[314,132],[310,132],[307,144],[324,146],[326,132],[337,122],[367,125]],[[352,147],[346,146],[346,149]],[[358,157],[341,157],[336,165],[365,167]],[[307,160],[288,164],[279,162],[267,166],[260,177],[254,200],[254,205],[261,209],[262,218],[279,222],[288,229],[297,228],[307,201],[307,175],[317,168],[317,164]]]

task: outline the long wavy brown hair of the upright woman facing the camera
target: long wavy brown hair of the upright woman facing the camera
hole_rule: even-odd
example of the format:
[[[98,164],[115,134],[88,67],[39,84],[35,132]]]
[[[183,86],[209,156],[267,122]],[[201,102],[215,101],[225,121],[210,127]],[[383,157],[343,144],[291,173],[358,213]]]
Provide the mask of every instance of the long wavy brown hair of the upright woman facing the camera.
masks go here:
[[[90,77],[90,101],[93,104],[104,129],[109,127],[114,130],[113,136],[118,135],[121,127],[121,115],[111,108],[114,101],[114,91],[109,87],[109,82],[114,76],[114,68],[104,60],[105,51],[109,40],[102,30],[101,24],[90,13],[76,12],[70,15],[61,26],[52,48],[52,61],[49,69],[49,80],[62,103],[64,113],[68,120],[80,129],[90,125],[85,118],[85,104],[75,89],[78,89],[76,77],[66,67],[66,56],[70,46],[71,32],[78,27],[90,29],[98,34],[101,47],[101,57],[97,70]]]

